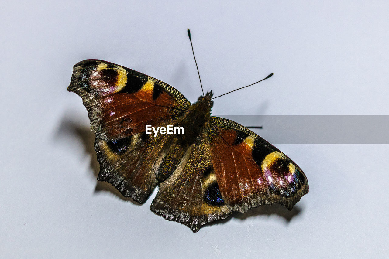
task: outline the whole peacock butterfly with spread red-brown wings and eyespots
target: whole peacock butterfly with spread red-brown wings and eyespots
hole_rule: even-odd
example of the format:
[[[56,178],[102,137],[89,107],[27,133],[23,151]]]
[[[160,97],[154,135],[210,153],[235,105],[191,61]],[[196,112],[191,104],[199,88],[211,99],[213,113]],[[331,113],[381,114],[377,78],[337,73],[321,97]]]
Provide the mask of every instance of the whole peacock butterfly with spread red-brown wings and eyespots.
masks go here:
[[[233,211],[273,203],[291,210],[308,193],[307,177],[284,153],[244,126],[211,116],[212,91],[191,104],[158,79],[96,59],[74,66],[68,91],[88,110],[98,180],[141,204],[158,185],[151,210],[193,232]],[[146,125],[183,133],[146,134]]]

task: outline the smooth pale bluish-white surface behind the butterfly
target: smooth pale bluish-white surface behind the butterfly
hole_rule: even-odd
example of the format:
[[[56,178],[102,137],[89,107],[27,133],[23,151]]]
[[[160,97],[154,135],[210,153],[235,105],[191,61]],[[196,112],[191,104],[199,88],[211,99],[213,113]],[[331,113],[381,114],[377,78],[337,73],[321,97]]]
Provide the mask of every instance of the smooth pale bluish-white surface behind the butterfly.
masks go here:
[[[198,233],[97,184],[72,66],[118,63],[215,115],[389,115],[387,1],[7,1],[0,7],[0,257],[386,257],[388,145],[277,145],[310,191]],[[335,125],[336,126],[336,125]],[[259,131],[260,133],[260,131]],[[97,184],[97,186],[96,186]],[[102,189],[102,190],[101,190]]]

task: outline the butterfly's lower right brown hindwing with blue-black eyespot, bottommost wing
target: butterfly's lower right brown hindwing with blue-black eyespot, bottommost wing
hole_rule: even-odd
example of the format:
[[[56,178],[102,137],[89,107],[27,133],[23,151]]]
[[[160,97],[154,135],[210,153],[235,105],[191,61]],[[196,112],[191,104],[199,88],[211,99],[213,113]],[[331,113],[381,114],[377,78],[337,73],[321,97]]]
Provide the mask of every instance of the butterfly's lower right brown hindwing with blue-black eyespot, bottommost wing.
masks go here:
[[[207,135],[196,139],[172,175],[160,183],[151,210],[167,220],[185,224],[193,232],[232,213],[217,185]]]

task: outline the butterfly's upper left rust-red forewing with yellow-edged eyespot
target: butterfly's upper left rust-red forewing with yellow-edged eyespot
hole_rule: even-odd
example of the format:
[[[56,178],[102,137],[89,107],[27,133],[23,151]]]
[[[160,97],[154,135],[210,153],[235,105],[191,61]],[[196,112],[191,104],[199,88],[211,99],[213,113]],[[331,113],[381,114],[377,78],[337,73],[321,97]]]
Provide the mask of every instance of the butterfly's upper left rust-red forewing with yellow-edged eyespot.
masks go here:
[[[117,140],[154,127],[174,124],[190,102],[172,86],[107,61],[74,65],[68,91],[88,110],[91,128],[102,140]]]

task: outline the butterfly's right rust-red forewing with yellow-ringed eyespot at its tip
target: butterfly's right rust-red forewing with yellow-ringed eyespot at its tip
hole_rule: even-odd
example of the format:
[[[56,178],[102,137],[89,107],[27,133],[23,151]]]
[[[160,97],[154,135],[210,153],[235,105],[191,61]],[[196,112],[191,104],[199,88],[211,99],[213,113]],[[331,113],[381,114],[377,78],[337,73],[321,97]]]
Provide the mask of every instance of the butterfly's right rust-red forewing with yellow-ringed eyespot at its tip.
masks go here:
[[[292,209],[308,193],[300,167],[254,132],[214,116],[209,131],[217,183],[230,210],[245,212],[272,203]]]

